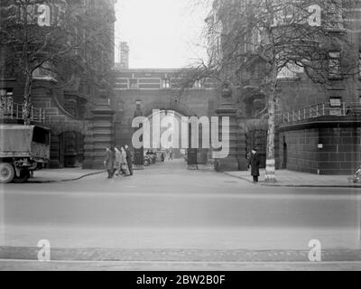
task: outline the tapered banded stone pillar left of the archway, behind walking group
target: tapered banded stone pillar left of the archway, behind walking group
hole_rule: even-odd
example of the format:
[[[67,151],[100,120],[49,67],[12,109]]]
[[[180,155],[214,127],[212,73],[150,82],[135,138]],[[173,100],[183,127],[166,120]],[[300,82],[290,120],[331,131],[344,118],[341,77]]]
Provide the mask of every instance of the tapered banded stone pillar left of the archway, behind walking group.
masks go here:
[[[113,115],[115,111],[110,108],[109,100],[104,91],[102,91],[99,104],[92,111],[93,121],[91,132],[88,132],[86,138],[86,155],[83,167],[94,170],[104,169],[104,158],[106,147],[114,144],[114,126]]]

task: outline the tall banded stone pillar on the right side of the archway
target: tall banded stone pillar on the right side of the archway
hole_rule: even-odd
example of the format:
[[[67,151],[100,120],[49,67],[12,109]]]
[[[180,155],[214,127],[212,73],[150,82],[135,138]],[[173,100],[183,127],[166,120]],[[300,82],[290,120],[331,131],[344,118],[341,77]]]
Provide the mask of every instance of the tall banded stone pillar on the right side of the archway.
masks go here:
[[[229,139],[226,140],[229,146],[229,154],[226,158],[216,160],[215,169],[218,172],[238,171],[238,161],[236,159],[236,110],[236,103],[232,99],[232,90],[226,83],[222,90],[221,104],[216,110],[216,113],[219,117],[219,139],[222,137],[222,129],[227,129],[227,127],[222,127],[222,117],[229,117]],[[222,141],[224,142],[225,140]]]

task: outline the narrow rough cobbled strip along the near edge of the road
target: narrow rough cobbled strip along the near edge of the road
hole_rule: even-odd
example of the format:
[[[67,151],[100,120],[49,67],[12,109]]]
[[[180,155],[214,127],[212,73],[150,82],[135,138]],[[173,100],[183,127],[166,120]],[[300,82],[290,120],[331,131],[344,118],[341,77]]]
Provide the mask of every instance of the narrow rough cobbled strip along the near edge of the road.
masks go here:
[[[0,260],[37,260],[39,247],[0,247]],[[113,262],[309,262],[305,249],[51,248],[52,261]],[[358,248],[322,251],[323,262],[361,262]]]

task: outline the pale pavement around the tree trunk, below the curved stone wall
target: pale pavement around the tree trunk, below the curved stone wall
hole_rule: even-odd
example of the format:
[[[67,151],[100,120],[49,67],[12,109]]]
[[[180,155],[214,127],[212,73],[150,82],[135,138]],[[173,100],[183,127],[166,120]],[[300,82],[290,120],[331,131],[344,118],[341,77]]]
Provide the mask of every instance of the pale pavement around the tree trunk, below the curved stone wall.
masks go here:
[[[253,183],[251,172],[225,172],[227,175]],[[361,182],[353,182],[352,175],[318,175],[306,172],[293,172],[287,170],[276,171],[275,183],[264,182],[265,171],[260,170],[258,185],[283,187],[336,187],[361,188]]]

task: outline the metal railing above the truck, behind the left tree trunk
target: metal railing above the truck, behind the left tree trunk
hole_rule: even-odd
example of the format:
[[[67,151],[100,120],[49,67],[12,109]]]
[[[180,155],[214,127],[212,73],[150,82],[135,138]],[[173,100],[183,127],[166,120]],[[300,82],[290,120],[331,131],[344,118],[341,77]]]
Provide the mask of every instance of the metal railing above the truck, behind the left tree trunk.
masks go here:
[[[8,103],[0,106],[0,117],[7,119],[20,119],[25,120],[25,111],[23,104]],[[45,123],[45,110],[43,108],[32,107],[30,113],[32,122]]]

